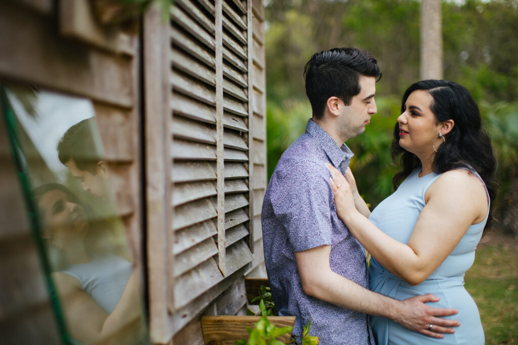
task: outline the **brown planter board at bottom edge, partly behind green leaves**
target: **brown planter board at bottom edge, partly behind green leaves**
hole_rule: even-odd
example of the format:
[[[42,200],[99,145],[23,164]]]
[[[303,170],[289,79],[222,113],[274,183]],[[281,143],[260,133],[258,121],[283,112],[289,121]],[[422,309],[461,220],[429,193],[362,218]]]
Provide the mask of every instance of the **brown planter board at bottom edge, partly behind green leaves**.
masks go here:
[[[234,345],[240,339],[248,339],[246,327],[254,328],[258,316],[204,316],[202,317],[203,337],[206,344]],[[294,316],[270,316],[268,320],[277,327],[293,327]],[[278,338],[289,344],[291,333]]]

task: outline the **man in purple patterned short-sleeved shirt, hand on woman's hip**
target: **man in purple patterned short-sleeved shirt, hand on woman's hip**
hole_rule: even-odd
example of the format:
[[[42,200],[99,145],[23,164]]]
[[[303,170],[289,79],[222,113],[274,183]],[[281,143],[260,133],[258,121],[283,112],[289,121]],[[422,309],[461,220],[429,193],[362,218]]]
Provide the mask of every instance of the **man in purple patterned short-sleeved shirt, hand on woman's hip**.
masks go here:
[[[368,290],[364,248],[337,217],[326,164],[344,173],[351,157],[344,144],[363,133],[375,114],[376,59],[355,48],[314,54],[305,67],[312,118],[280,158],[266,190],[263,245],[270,288],[280,315],[296,316],[300,335],[325,344],[375,344],[367,314],[390,318],[441,338],[458,326],[436,316],[453,309],[424,305],[432,295],[397,301]],[[429,324],[434,324],[433,332]]]

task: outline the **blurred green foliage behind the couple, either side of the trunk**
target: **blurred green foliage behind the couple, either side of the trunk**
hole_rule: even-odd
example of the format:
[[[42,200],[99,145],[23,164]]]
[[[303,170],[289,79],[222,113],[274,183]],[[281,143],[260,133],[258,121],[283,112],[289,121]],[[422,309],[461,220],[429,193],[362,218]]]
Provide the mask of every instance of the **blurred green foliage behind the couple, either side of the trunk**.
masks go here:
[[[358,189],[372,209],[393,190],[390,145],[400,98],[419,80],[420,2],[275,0],[266,21],[268,177],[311,117],[303,78],[310,56],[354,46],[378,59],[378,114],[347,142]],[[518,177],[518,0],[444,1],[442,23],[444,79],[467,87],[481,108],[498,158],[497,204],[505,204]]]

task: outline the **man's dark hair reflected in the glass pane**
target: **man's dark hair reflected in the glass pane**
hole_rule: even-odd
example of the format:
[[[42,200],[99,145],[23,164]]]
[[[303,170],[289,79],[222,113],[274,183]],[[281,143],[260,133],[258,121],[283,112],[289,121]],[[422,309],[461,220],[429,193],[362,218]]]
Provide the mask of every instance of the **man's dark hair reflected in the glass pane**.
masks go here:
[[[68,128],[57,144],[57,157],[66,165],[72,159],[79,170],[97,174],[97,163],[103,158],[95,144],[95,119],[84,119]]]

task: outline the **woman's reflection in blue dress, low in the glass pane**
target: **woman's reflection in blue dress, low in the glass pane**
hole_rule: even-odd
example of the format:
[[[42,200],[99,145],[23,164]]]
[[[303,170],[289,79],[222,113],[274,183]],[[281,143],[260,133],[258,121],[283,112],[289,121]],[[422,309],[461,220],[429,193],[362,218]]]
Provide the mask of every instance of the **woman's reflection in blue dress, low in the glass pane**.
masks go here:
[[[52,278],[74,342],[137,343],[141,309],[133,264],[106,251],[109,230],[94,231],[85,208],[65,186],[42,185],[33,194],[48,249],[60,262],[61,271]]]

